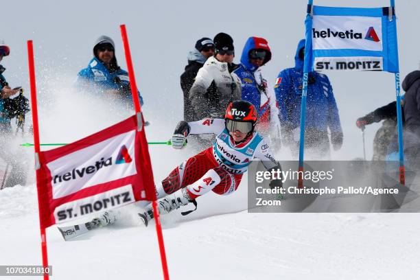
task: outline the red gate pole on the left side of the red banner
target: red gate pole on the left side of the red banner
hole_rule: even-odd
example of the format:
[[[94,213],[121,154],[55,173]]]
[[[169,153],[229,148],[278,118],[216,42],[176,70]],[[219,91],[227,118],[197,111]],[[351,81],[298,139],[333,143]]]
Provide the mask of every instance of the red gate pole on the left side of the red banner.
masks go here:
[[[31,86],[31,103],[32,103],[32,122],[34,126],[34,148],[35,148],[35,169],[36,177],[39,177],[40,163],[39,163],[39,126],[38,126],[38,107],[36,106],[36,84],[35,84],[35,63],[34,63],[34,46],[32,45],[32,40],[27,41],[27,59],[29,62],[29,71],[30,71],[30,86]],[[37,180],[38,181],[38,180]],[[43,253],[43,267],[44,267],[44,280],[49,279],[49,274],[45,273],[48,268],[48,253],[47,253],[47,233],[45,233],[45,228],[41,226],[41,215],[40,215],[40,188],[38,184],[36,185],[38,190],[38,213],[39,213],[39,225],[40,225],[40,237],[41,237],[41,250]]]

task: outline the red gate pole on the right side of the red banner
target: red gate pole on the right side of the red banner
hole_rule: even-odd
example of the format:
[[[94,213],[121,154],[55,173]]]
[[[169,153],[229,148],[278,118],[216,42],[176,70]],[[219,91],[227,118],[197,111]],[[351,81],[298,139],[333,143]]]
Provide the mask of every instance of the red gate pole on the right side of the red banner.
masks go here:
[[[128,36],[127,36],[127,30],[126,25],[122,24],[119,25],[121,29],[121,36],[124,44],[124,52],[126,53],[126,62],[127,62],[127,68],[128,68],[128,77],[130,78],[130,87],[131,87],[131,94],[132,94],[132,100],[135,105],[135,111],[138,121],[141,121],[143,125],[143,116],[141,115],[141,106],[139,102],[139,95],[137,94],[137,84],[135,80],[135,72],[134,68],[132,67],[132,59],[131,59],[131,53],[130,53],[130,45],[128,44]],[[144,127],[143,127],[144,128]],[[145,135],[145,134],[143,134]],[[144,139],[145,141],[145,139]],[[147,142],[145,142],[147,143]],[[145,156],[145,153],[142,153],[143,156]],[[146,161],[150,161],[150,159],[145,159]],[[157,203],[156,203],[156,193],[155,191],[152,191],[152,207],[153,207],[153,215],[154,215],[154,221],[156,223],[156,235],[158,237],[159,242],[159,250],[161,252],[161,262],[162,262],[162,270],[163,270],[163,279],[169,280],[169,271],[167,269],[167,261],[166,261],[166,253],[165,253],[165,244],[163,242],[163,233],[162,233],[162,226],[161,221],[159,219],[159,210],[157,209]]]

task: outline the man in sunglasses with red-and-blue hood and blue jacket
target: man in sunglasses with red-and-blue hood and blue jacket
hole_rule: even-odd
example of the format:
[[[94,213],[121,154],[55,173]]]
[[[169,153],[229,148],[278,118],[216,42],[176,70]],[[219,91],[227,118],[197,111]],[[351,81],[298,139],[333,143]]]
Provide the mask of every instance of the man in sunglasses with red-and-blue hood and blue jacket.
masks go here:
[[[271,59],[271,50],[264,38],[250,37],[242,51],[240,67],[233,71],[242,84],[242,100],[252,103],[258,112],[257,130],[280,148],[279,110],[274,91],[267,86],[261,67]],[[271,132],[271,133],[269,133]]]

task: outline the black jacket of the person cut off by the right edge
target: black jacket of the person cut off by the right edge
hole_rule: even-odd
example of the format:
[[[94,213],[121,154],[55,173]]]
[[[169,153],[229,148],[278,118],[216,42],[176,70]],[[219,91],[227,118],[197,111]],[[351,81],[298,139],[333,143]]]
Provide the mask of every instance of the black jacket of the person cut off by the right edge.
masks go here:
[[[420,138],[420,71],[409,73],[402,83],[406,91],[404,97],[404,115],[406,130]]]

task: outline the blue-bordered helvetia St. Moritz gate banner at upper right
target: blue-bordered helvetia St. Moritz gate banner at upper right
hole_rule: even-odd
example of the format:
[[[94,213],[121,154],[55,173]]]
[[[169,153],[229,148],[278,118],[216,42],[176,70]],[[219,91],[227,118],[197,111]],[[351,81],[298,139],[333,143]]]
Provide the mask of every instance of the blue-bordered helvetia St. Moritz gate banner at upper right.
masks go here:
[[[310,7],[305,70],[399,72],[393,8]]]

